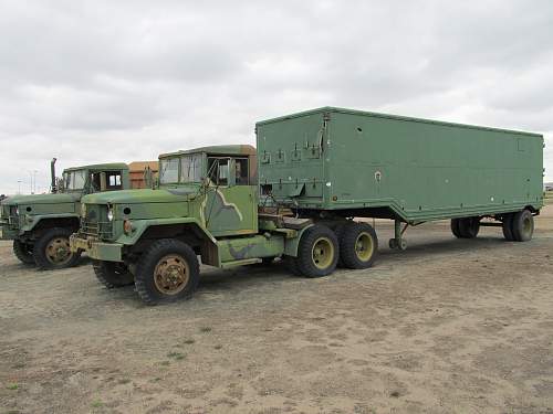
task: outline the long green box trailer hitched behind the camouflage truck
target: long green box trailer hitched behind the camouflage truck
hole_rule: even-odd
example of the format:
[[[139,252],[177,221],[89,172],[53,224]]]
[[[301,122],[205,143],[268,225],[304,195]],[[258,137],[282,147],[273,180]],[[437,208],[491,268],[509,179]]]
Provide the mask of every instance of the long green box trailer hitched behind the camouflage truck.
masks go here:
[[[255,130],[264,205],[326,220],[392,219],[392,247],[406,247],[405,225],[442,219],[458,237],[501,225],[508,240],[529,238],[543,205],[538,134],[333,107]]]

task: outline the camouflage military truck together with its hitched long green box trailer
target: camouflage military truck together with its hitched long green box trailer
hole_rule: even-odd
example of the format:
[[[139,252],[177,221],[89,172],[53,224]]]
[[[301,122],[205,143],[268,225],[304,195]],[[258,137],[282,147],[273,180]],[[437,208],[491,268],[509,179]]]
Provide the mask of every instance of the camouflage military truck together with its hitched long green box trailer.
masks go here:
[[[319,277],[374,263],[375,230],[354,217],[394,220],[389,244],[404,250],[407,225],[441,219],[458,237],[499,225],[526,241],[543,204],[540,135],[337,108],[255,130],[257,152],[163,155],[158,189],[86,195],[72,251],[107,287],[134,283],[153,305],[192,295],[198,255],[221,268],[282,257]]]

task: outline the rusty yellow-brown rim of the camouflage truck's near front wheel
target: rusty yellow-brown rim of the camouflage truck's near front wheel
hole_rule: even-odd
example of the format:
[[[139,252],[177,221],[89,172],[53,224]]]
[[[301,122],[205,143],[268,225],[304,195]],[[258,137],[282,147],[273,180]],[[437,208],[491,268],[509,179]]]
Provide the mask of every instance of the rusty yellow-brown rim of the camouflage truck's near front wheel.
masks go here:
[[[165,295],[177,295],[190,279],[190,267],[178,254],[169,254],[157,262],[154,269],[156,288]]]

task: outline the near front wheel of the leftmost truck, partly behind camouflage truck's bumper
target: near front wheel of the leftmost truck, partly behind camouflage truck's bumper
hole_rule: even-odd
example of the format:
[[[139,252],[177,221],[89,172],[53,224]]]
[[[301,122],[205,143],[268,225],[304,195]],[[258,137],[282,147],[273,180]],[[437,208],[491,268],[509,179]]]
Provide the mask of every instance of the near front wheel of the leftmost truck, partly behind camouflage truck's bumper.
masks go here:
[[[33,257],[39,268],[60,269],[77,264],[81,252],[71,252],[69,243],[71,234],[73,231],[70,229],[53,227],[34,242]]]

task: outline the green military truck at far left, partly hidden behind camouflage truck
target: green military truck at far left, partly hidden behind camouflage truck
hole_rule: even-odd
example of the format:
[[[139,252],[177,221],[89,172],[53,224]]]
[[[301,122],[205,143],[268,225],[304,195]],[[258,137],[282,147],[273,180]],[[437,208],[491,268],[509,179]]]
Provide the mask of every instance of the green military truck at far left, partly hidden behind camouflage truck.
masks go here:
[[[22,263],[43,269],[77,263],[81,252],[71,252],[69,237],[79,230],[84,194],[129,188],[125,163],[69,168],[56,179],[54,162],[52,193],[8,197],[0,205],[0,240],[12,240]]]

